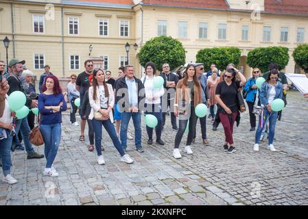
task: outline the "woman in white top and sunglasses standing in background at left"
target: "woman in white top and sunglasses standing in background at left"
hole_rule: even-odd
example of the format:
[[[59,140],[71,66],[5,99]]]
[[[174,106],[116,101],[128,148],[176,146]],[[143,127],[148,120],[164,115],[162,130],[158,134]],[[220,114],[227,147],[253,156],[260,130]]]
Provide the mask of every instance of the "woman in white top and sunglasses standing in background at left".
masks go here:
[[[74,103],[75,99],[80,96],[79,91],[76,89],[76,79],[77,75],[71,75],[71,81],[67,84],[67,92],[69,92],[69,103],[71,103],[70,121],[73,125],[79,125],[78,122],[76,122],[75,117],[78,107]]]

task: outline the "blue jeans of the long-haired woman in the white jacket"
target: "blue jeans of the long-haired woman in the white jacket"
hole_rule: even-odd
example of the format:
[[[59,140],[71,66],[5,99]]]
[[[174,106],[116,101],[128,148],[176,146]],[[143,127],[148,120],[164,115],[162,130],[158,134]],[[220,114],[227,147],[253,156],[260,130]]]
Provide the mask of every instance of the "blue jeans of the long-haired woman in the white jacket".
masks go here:
[[[123,157],[123,155],[125,155],[125,151],[123,150],[123,148],[121,146],[119,138],[117,138],[117,133],[115,133],[115,127],[110,122],[110,119],[101,121],[101,120],[96,120],[95,118],[93,118],[92,125],[93,125],[93,129],[94,129],[95,149],[97,151],[97,155],[99,155],[99,156],[102,155],[102,148],[101,148],[101,145],[102,145],[102,125],[104,125],[104,128],[108,132],[108,135],[110,136],[110,138],[113,142],[113,145],[115,146],[117,151],[119,151],[119,154],[121,155],[121,157]]]

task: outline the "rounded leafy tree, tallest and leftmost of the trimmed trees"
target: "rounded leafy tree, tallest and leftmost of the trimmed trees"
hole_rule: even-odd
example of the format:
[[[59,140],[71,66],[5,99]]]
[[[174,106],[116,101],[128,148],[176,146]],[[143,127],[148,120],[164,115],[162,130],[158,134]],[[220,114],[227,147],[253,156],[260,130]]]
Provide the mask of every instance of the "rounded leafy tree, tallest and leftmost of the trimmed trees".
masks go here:
[[[172,70],[185,64],[185,57],[185,49],[180,41],[170,36],[158,36],[145,42],[139,60],[143,67],[147,62],[154,62],[158,70],[162,70],[163,64],[167,62]]]

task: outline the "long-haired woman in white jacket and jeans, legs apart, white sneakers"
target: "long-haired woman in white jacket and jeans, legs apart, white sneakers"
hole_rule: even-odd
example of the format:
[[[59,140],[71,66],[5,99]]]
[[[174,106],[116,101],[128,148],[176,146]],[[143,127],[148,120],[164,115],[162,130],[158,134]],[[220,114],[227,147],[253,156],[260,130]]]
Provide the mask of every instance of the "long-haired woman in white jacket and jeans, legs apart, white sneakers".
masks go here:
[[[88,116],[92,120],[95,136],[95,149],[97,151],[97,163],[105,164],[104,155],[102,154],[102,126],[108,132],[115,148],[121,155],[121,162],[132,164],[132,158],[123,150],[115,127],[113,126],[112,107],[115,105],[115,94],[111,84],[105,82],[104,70],[95,68],[93,70],[93,86],[88,88],[88,99],[91,105],[91,113]]]

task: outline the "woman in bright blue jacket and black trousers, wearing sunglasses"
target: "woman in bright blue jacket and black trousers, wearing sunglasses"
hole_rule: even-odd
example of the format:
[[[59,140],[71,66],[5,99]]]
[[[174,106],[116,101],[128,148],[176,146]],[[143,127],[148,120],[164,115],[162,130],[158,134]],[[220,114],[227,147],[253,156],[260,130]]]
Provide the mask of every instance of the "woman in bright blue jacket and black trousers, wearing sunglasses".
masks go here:
[[[246,103],[248,105],[249,117],[250,117],[249,131],[254,131],[256,129],[256,116],[252,113],[252,110],[254,106],[254,101],[256,101],[256,95],[258,90],[256,81],[259,76],[260,76],[259,68],[254,68],[252,70],[252,77],[248,79],[247,83],[244,86],[244,90],[247,92]]]

